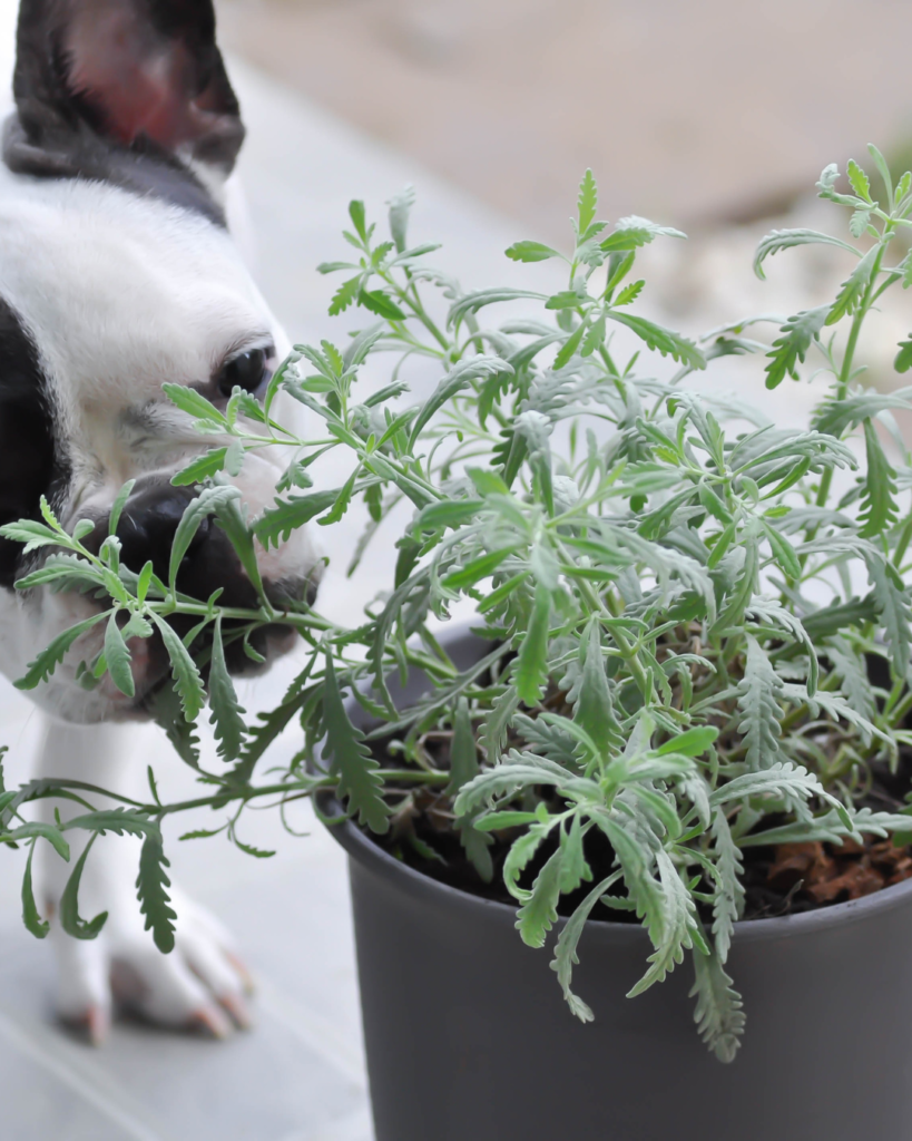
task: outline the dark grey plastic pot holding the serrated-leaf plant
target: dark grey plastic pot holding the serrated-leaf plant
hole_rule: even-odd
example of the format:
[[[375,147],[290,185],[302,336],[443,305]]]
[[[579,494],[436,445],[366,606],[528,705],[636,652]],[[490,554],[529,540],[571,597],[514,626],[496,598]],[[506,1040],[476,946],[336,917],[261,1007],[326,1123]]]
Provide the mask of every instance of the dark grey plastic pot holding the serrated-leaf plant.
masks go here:
[[[448,640],[465,661],[477,642]],[[426,688],[410,679],[402,701]],[[690,961],[637,998],[641,928],[591,921],[563,1002],[515,914],[438,883],[351,824],[358,972],[376,1141],[857,1141],[912,1136],[912,881],[739,923],[738,1059],[694,1022]],[[553,934],[556,936],[556,932]]]

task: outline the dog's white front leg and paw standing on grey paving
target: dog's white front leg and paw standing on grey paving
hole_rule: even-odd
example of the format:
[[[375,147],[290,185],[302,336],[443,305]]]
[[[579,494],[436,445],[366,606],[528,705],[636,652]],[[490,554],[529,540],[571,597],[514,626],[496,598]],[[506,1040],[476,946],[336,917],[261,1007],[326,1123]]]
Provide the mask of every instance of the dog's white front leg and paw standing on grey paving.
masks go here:
[[[142,730],[133,726],[79,727],[51,722],[39,759],[38,775],[83,780],[127,796],[141,796],[145,785]],[[137,755],[139,753],[139,755]],[[84,794],[95,808],[112,801]],[[85,809],[71,801],[39,802],[52,820],[55,806],[64,819]],[[59,924],[59,903],[73,865],[91,833],[67,832],[70,863],[48,844],[40,845],[39,892],[51,919],[50,941],[58,973],[58,1011],[67,1022],[85,1027],[100,1042],[114,1003],[153,1022],[205,1029],[219,1037],[233,1025],[246,1026],[244,993],[249,978],[231,950],[220,923],[179,891],[172,890],[178,913],[176,947],[162,955],[145,930],[136,896],[139,840],[99,836],[89,853],[80,885],[83,917],[107,912],[97,939],[75,939]]]

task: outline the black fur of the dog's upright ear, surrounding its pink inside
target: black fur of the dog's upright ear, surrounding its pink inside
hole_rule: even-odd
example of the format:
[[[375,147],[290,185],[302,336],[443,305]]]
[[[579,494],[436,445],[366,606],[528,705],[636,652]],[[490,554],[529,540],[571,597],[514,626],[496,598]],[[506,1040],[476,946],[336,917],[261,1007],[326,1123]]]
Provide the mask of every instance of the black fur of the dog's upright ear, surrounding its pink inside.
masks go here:
[[[130,22],[135,34],[122,50],[147,48],[148,55],[117,60],[119,41],[101,43],[99,58],[115,57],[112,86],[80,89],[73,43],[84,44],[87,27],[92,30],[92,19],[104,21],[106,11]],[[116,130],[122,113],[117,64],[128,72],[135,64],[139,74],[161,50],[173,55],[166,92],[182,129],[177,139],[156,138],[154,130],[124,138]],[[237,98],[215,46],[212,0],[23,0],[13,86],[17,111],[3,137],[10,170],[107,181],[225,224],[221,208],[174,153],[176,147],[186,151],[228,173],[244,139]]]

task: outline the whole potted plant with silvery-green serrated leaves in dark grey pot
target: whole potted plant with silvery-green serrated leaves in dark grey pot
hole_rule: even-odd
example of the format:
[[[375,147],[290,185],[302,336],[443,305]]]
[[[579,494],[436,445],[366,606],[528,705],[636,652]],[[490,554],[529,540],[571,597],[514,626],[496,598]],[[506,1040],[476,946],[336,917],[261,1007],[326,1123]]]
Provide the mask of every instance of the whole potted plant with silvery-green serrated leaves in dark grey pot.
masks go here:
[[[357,305],[372,323],[344,348],[298,347],[262,404],[236,390],[219,410],[166,388],[215,445],[176,479],[198,495],[170,582],[120,564],[116,510],[98,553],[47,508],[3,528],[50,551],[23,588],[111,598],[87,685],[106,670],[130,683],[122,612],[131,633],[164,639],[174,691],[158,715],[195,766],[206,675],[225,767],[201,772],[209,795],[194,806],[230,806],[233,834],[255,798],[314,795],[347,848],[378,1141],[902,1134],[912,466],[889,410],[912,407],[912,390],[865,389],[855,354],[883,290],[912,283],[912,256],[891,258],[912,225],[912,175],[894,188],[872,156],[882,204],[855,163],[847,187],[834,167],[819,184],[852,209],[854,242],[799,229],[760,243],[760,275],[769,256],[814,242],[847,264],[836,299],[777,321],[772,345],[744,335],[768,317],[698,345],[640,315],[637,251],[682,235],[597,221],[591,172],[567,257],[536,242],[506,251],[532,264],[522,290],[464,292],[430,268],[435,246],[408,244],[409,195],[391,203],[384,241],[352,202],[355,254],[320,270],[345,274],[331,313]],[[534,264],[552,259],[567,262],[556,293],[534,288]],[[540,311],[482,323],[515,300]],[[396,355],[390,383],[358,402],[380,351]],[[687,387],[749,354],[768,388],[817,375],[809,424],[777,427]],[[439,372],[418,406],[402,400],[414,356]],[[910,364],[903,342],[896,369]],[[274,421],[279,388],[310,411],[312,438]],[[276,443],[290,463],[275,507],[247,521],[222,471]],[[348,451],[350,476],[314,489],[329,448]],[[254,543],[332,525],[356,500],[370,523],[353,564],[368,541],[392,541],[408,508],[394,582],[360,625],[303,604],[276,615],[264,599],[226,612],[177,590],[202,519],[226,529],[255,582]],[[470,628],[447,626],[466,597]],[[181,614],[198,620],[184,639],[169,624]],[[223,646],[277,617],[307,662],[249,725]],[[258,780],[295,718],[301,752]],[[19,816],[46,795],[79,795],[87,812],[60,828]],[[181,807],[153,786],[149,803],[95,812],[91,790],[40,782],[3,794],[0,839],[64,850],[66,827],[142,833],[140,900],[166,950],[161,822]],[[63,921],[84,934],[81,865]],[[23,898],[40,933],[28,871]]]

